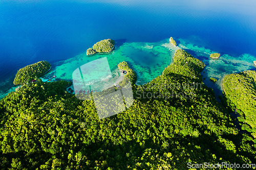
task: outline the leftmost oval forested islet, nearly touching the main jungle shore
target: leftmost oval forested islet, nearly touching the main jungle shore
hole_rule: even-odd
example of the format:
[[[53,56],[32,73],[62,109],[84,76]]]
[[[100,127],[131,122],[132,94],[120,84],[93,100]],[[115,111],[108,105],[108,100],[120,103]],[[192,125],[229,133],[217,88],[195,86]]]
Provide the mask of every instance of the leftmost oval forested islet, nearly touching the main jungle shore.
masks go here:
[[[51,64],[47,61],[39,61],[37,63],[20,68],[16,74],[13,84],[18,85],[30,82],[37,77],[43,76],[50,68]]]

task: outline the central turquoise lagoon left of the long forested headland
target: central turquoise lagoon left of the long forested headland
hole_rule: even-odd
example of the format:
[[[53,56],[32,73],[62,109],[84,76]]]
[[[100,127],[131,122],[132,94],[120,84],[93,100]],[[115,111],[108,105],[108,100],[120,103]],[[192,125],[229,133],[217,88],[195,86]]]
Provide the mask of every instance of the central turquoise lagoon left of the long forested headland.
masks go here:
[[[135,70],[138,83],[144,84],[162,74],[163,69],[172,62],[176,49],[178,47],[170,45],[167,39],[155,43],[132,42],[123,43],[121,46],[117,44],[117,47],[111,53],[92,56],[83,53],[74,58],[57,62],[49,74],[42,77],[42,79],[47,81],[55,75],[55,80],[72,80],[72,73],[79,66],[107,57],[113,75],[119,72],[117,65],[126,61]]]

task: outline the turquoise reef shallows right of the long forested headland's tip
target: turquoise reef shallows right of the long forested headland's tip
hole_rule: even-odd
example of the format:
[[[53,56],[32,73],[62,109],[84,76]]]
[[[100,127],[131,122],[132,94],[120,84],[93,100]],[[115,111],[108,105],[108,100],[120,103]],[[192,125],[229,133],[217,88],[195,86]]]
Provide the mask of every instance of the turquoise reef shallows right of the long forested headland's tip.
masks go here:
[[[256,70],[253,66],[253,61],[256,57],[250,54],[242,54],[240,56],[231,56],[218,51],[212,51],[199,43],[199,37],[190,39],[179,39],[179,47],[188,51],[194,57],[205,63],[205,68],[201,72],[203,82],[210,88],[214,89],[216,96],[222,93],[222,80],[225,75],[244,70]],[[205,42],[201,42],[205,43]],[[212,53],[220,53],[219,59],[210,59]],[[216,78],[217,82],[210,81],[210,77]]]

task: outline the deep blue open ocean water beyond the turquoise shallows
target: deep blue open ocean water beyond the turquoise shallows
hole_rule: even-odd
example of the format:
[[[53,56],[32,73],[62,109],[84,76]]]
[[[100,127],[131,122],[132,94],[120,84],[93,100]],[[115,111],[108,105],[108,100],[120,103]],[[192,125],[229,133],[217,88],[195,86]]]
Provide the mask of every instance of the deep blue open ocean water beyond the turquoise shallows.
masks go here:
[[[0,1],[0,90],[19,68],[56,63],[95,42],[187,39],[221,54],[256,56],[255,1]],[[256,60],[256,58],[255,58]]]

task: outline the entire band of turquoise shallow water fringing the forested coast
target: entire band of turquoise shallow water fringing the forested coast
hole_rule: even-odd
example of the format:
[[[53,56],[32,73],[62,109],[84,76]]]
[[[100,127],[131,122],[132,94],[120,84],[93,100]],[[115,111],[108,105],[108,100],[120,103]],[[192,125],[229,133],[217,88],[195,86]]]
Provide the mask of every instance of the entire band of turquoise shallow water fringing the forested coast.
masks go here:
[[[172,58],[178,48],[188,51],[194,57],[202,60],[206,64],[206,67],[202,71],[202,76],[205,78],[203,82],[208,87],[213,88],[217,95],[221,93],[221,82],[225,75],[233,72],[255,69],[252,63],[253,60],[255,60],[255,56],[249,54],[243,54],[241,56],[221,54],[221,57],[218,60],[210,59],[209,55],[211,53],[218,52],[211,51],[204,47],[203,43],[205,42],[201,42],[202,44],[200,44],[200,41],[198,40],[199,38],[197,37],[177,39],[177,47],[170,45],[168,38],[158,42],[116,43],[116,47],[111,53],[87,56],[86,52],[84,52],[73,58],[52,63],[52,69],[41,79],[43,81],[48,81],[55,75],[56,78],[51,79],[51,81],[72,81],[72,73],[76,68],[93,60],[107,57],[113,77],[119,75],[119,69],[117,69],[118,63],[126,61],[137,74],[137,84],[144,84],[162,74],[164,68],[172,63]],[[210,77],[214,77],[218,81],[213,83],[209,80]],[[11,91],[14,91],[15,88],[16,86],[12,86],[8,91],[0,91],[0,98],[3,98]]]

